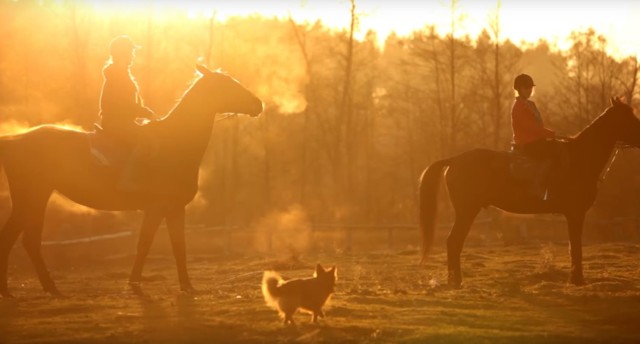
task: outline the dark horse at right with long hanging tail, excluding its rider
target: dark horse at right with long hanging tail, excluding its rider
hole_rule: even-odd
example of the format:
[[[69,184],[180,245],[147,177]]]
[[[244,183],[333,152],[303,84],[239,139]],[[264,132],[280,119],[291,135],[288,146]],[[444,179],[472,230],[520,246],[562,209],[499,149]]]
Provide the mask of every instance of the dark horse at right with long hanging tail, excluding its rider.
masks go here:
[[[434,162],[420,180],[422,260],[427,258],[433,242],[437,193],[442,170],[448,167],[445,178],[455,210],[455,221],[447,238],[449,285],[462,283],[460,253],[464,240],[480,209],[490,205],[520,214],[563,214],[569,229],[570,282],[584,284],[582,226],[595,200],[599,176],[618,142],[639,146],[640,120],[629,105],[612,98],[604,113],[565,143],[570,156],[568,176],[551,187],[546,201],[531,196],[522,182],[511,177],[506,152],[475,149]]]

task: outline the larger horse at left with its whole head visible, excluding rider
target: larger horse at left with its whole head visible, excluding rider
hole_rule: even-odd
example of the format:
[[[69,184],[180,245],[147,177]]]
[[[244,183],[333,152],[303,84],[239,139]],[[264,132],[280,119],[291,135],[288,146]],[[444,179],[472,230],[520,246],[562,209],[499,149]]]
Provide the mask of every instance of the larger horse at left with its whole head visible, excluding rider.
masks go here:
[[[142,127],[154,140],[156,157],[150,159],[139,192],[118,187],[119,171],[97,164],[89,149],[89,133],[44,125],[17,135],[0,137],[0,162],[11,192],[12,210],[0,231],[0,294],[10,297],[7,266],[11,248],[22,242],[46,292],[58,294],[41,254],[42,225],[54,191],[79,204],[101,210],[143,210],[144,220],[130,275],[139,290],[142,267],[153,237],[166,219],[176,260],[180,288],[192,292],[187,274],[185,206],[198,190],[198,170],[207,148],[215,114],[259,115],[262,101],[230,76],[197,67],[202,74],[182,99],[161,120]]]

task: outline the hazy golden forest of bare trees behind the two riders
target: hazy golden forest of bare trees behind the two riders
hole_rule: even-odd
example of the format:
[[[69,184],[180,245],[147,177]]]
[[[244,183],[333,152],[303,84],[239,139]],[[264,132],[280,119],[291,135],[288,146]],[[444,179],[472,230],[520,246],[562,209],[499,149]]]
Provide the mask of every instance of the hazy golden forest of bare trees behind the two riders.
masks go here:
[[[311,223],[415,224],[426,166],[475,147],[509,148],[515,75],[533,76],[546,125],[564,135],[588,125],[610,96],[638,107],[637,58],[613,58],[594,30],[574,32],[566,51],[520,44],[502,38],[496,11],[478,37],[464,36],[454,1],[452,35],[425,26],[380,47],[375,32],[355,38],[362,14],[351,4],[350,25],[334,30],[260,16],[221,22],[215,13],[160,12],[153,2],[146,11],[98,12],[76,1],[2,1],[0,131],[45,123],[92,130],[108,44],[127,34],[142,46],[132,71],[157,114],[175,105],[196,63],[228,71],[266,104],[258,119],[216,122],[190,224],[251,226],[274,213]],[[637,216],[639,172],[640,153],[619,153],[592,215]],[[7,192],[3,186],[3,213]],[[442,200],[446,221],[444,193]],[[87,233],[78,224],[95,234],[122,223],[55,203],[53,233],[61,231],[54,225],[74,226],[77,236]]]

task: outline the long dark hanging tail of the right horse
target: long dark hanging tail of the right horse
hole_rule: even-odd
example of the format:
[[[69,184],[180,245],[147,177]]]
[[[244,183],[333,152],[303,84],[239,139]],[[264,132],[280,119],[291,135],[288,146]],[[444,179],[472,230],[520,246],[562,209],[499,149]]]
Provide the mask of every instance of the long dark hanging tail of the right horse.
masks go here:
[[[420,231],[422,232],[422,258],[420,263],[425,263],[431,245],[436,226],[436,213],[438,210],[438,189],[442,170],[449,166],[450,159],[438,160],[429,165],[420,177],[419,212]]]

